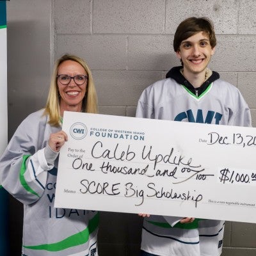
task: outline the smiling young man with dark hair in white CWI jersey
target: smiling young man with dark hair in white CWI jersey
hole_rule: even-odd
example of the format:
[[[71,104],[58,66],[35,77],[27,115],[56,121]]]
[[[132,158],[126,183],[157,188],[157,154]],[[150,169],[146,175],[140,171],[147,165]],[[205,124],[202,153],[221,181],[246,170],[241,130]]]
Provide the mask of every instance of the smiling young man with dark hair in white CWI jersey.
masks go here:
[[[173,47],[182,66],[173,67],[166,79],[145,89],[136,116],[251,126],[250,109],[239,90],[207,68],[215,46],[209,19],[191,17],[181,22]],[[150,216],[143,223],[141,256],[219,256],[224,225],[218,220]]]

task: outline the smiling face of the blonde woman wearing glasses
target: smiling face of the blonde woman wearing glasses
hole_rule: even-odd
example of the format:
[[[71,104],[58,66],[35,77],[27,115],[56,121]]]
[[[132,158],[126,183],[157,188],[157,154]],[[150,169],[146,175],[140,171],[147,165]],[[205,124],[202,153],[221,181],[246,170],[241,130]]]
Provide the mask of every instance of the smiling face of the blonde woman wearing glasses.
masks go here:
[[[61,76],[60,75],[67,75]],[[82,76],[77,76],[82,75]],[[84,76],[87,77],[86,71],[84,68],[77,63],[76,61],[66,60],[63,61],[58,67],[58,89],[60,93],[60,109],[61,112],[67,111],[81,111],[83,105],[83,98],[86,93],[86,87],[88,79],[84,80],[83,84],[80,84],[83,81]],[[67,83],[69,77],[71,78],[70,82],[66,85],[61,84]],[[77,77],[75,77],[77,76]],[[80,85],[77,85],[76,82]]]

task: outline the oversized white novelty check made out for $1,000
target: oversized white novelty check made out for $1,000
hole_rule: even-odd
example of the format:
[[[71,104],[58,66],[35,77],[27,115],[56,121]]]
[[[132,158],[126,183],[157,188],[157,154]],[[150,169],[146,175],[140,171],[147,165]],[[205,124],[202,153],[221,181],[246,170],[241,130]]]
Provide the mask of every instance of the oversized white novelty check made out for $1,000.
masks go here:
[[[55,207],[256,223],[256,129],[65,112]]]

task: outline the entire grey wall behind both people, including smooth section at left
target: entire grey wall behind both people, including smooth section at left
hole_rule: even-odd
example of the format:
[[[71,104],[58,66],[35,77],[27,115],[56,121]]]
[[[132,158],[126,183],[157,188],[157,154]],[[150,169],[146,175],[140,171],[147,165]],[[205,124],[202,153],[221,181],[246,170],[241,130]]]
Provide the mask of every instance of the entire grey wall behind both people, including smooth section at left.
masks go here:
[[[65,52],[91,67],[100,113],[134,116],[141,92],[179,65],[173,34],[190,16],[214,22],[218,44],[210,67],[241,90],[256,126],[254,0],[11,0],[7,8],[9,138],[44,106],[51,66]],[[10,212],[11,255],[18,256],[22,205],[11,199]],[[100,256],[138,256],[142,219],[100,216]],[[256,255],[256,225],[227,221],[222,255]]]

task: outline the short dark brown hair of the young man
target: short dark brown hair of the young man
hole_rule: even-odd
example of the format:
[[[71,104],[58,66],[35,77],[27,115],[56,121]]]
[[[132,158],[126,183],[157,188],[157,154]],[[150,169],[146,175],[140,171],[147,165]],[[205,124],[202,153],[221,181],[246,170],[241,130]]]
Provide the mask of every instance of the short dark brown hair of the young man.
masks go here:
[[[211,47],[215,47],[216,36],[214,32],[214,26],[211,20],[206,17],[190,17],[186,20],[183,20],[176,29],[173,40],[174,51],[179,51],[180,44],[183,40],[186,40],[190,36],[193,36],[201,31],[207,33],[207,35],[209,36]]]

